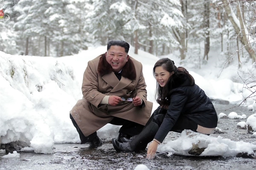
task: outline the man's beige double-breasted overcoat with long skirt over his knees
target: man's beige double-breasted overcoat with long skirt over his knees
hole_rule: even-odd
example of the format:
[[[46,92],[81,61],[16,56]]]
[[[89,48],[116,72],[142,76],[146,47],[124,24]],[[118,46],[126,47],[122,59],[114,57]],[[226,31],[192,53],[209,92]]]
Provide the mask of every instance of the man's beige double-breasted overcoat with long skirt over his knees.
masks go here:
[[[153,103],[147,101],[142,64],[132,57],[129,57],[129,64],[134,65],[133,69],[135,68],[135,71],[131,71],[131,74],[135,74],[136,72],[136,78],[134,78],[134,80],[126,78],[130,77],[130,73],[127,72],[130,67],[123,68],[123,71],[126,72],[124,74],[122,72],[122,78],[119,81],[114,72],[109,71],[109,67],[106,68],[102,66],[102,63],[100,64],[102,68],[99,69],[103,69],[104,72],[104,69],[107,69],[106,72],[109,73],[103,76],[99,74],[98,66],[99,62],[102,62],[101,57],[105,57],[105,54],[88,62],[82,82],[83,98],[78,100],[70,111],[70,114],[75,119],[79,128],[85,136],[88,136],[109,123],[114,117],[145,125],[151,115]],[[127,63],[126,65],[128,65]],[[128,76],[123,77],[123,75]],[[131,91],[133,92],[126,95]],[[117,106],[100,104],[106,95],[116,95],[120,97],[125,95],[125,98],[135,97],[135,95],[140,96],[145,107],[135,107],[132,102],[128,101],[121,101]]]

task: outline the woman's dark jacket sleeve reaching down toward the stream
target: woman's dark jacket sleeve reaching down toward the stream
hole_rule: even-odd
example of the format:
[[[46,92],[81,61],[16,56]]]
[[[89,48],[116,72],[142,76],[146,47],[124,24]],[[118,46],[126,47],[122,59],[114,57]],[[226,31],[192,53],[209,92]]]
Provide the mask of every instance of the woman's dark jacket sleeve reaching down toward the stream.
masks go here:
[[[175,89],[171,93],[170,105],[168,107],[165,119],[163,120],[162,125],[155,134],[155,139],[161,143],[165,139],[166,135],[171,131],[172,127],[175,125],[178,117],[181,114],[181,111],[186,104],[187,96],[183,90]]]

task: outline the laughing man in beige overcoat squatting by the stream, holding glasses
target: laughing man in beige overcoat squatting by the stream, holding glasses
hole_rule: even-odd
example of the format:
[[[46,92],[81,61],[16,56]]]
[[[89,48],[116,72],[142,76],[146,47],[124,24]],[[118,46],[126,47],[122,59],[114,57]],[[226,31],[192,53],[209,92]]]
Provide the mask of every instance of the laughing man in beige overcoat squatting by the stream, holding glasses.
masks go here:
[[[83,98],[70,111],[81,144],[101,146],[96,131],[107,123],[123,125],[117,140],[128,141],[148,121],[153,104],[147,101],[142,64],[128,55],[129,48],[125,41],[111,40],[105,54],[88,62]]]

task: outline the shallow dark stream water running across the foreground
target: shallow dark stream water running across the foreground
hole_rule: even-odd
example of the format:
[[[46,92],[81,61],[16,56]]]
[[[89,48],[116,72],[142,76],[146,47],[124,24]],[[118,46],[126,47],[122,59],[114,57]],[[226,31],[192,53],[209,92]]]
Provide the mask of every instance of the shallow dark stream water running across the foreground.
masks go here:
[[[247,117],[253,114],[247,107],[235,107],[233,105],[215,104],[217,113],[229,114],[235,111],[239,115]],[[226,110],[226,111],[225,111]],[[233,141],[245,141],[255,143],[256,136],[247,134],[247,130],[237,129],[236,124],[244,120],[219,119],[218,128],[222,136]],[[180,134],[170,132],[164,143],[174,140]],[[37,154],[31,152],[19,152],[20,158],[1,158],[0,170],[133,170],[138,164],[146,165],[150,170],[248,170],[256,169],[256,159],[237,157],[198,157],[167,155],[158,153],[153,160],[146,159],[146,151],[142,153],[117,153],[111,143],[104,143],[97,149],[90,149],[88,144],[56,144],[53,154]],[[3,156],[3,155],[0,155]]]

